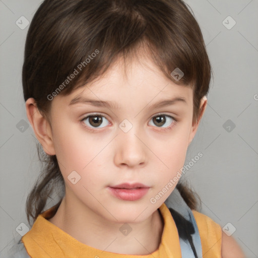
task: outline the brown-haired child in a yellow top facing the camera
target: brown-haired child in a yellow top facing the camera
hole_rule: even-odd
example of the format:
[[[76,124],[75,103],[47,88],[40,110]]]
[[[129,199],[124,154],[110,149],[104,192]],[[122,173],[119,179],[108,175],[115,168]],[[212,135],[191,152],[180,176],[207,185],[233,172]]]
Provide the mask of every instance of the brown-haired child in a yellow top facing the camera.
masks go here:
[[[179,180],[210,78],[182,1],[43,1],[23,90],[46,166],[13,257],[243,257]]]

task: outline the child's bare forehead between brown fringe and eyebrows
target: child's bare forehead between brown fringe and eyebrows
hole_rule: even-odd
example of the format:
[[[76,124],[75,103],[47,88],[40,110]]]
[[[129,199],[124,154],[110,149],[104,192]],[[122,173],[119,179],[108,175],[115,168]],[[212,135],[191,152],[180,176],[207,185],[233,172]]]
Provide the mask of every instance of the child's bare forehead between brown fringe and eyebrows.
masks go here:
[[[82,97],[110,100],[116,102],[117,108],[121,108],[125,100],[132,104],[153,99],[154,103],[174,97],[183,97],[191,105],[192,88],[169,80],[148,56],[120,57],[104,74],[67,96],[57,96],[56,100],[69,105]]]

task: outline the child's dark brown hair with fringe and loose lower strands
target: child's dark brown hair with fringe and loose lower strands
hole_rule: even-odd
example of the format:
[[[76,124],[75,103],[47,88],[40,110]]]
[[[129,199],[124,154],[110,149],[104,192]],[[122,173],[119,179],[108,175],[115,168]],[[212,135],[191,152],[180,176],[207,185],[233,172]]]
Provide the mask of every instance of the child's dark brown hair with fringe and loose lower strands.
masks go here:
[[[181,0],[43,1],[26,39],[24,99],[34,98],[48,119],[50,100],[56,93],[68,95],[103,75],[118,56],[132,57],[144,51],[168,79],[192,87],[192,121],[196,122],[201,99],[209,92],[212,70],[201,29]],[[171,76],[176,68],[184,73],[179,81]],[[68,81],[75,71],[78,75]],[[41,152],[38,145],[39,157]],[[44,151],[42,155],[45,165],[26,202],[27,219],[31,216],[33,222],[53,189],[58,184],[64,189],[56,156]],[[182,179],[176,187],[187,205],[197,209],[199,197]]]

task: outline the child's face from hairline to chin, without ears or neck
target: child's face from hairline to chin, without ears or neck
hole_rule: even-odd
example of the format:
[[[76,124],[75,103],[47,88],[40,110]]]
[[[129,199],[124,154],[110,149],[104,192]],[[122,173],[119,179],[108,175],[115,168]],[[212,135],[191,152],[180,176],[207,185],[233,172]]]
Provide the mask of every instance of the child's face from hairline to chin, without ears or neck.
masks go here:
[[[171,179],[181,173],[197,127],[192,89],[168,80],[149,59],[147,66],[134,61],[127,79],[123,64],[53,98],[49,154],[57,157],[71,206],[130,223],[151,216],[175,188]],[[148,188],[110,187],[121,183]]]

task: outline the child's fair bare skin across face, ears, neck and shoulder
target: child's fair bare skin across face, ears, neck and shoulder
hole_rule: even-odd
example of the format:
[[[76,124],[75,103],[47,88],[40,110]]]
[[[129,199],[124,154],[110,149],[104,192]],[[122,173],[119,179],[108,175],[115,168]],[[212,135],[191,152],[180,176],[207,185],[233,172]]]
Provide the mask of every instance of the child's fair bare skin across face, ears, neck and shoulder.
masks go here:
[[[68,96],[55,96],[50,121],[38,111],[33,98],[26,101],[26,111],[44,151],[56,155],[65,182],[66,195],[49,221],[97,249],[144,255],[159,247],[164,224],[157,209],[176,184],[155,204],[150,199],[183,167],[207,99],[201,102],[198,121],[192,123],[191,88],[174,84],[147,58],[134,61],[125,78],[121,72],[123,61],[118,60],[99,80]],[[116,102],[120,108],[89,103],[69,105],[76,96]],[[174,97],[185,101],[150,107]],[[94,121],[86,119],[96,113],[102,118],[97,127]],[[166,119],[163,123],[160,120],[155,123],[158,113]],[[119,128],[124,119],[133,125],[126,133]],[[128,128],[128,123],[125,124]],[[81,176],[76,184],[68,179],[72,171]],[[108,188],[123,182],[141,182],[150,188],[140,200],[124,201],[112,196]],[[124,223],[132,227],[126,236],[119,231]],[[232,237],[222,239],[223,258],[233,257],[228,250],[238,245]],[[243,257],[239,253],[240,248],[234,257]]]

